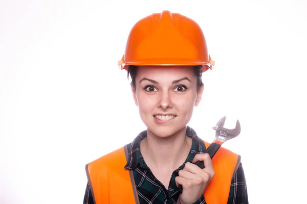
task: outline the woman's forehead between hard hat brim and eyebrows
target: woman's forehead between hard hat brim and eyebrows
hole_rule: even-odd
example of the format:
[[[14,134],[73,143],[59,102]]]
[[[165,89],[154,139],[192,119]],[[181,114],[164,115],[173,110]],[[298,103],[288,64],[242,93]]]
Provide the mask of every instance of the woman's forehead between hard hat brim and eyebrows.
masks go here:
[[[168,78],[170,80],[181,77],[192,77],[192,66],[139,66],[138,78]]]

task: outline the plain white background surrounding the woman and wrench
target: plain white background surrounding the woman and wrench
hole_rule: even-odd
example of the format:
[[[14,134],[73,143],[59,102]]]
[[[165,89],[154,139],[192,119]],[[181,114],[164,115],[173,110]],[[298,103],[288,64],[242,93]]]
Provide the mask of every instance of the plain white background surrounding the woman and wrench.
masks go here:
[[[224,146],[250,203],[306,203],[306,1],[103,2],[0,2],[1,204],[82,203],[85,164],[145,129],[117,61],[163,10],[198,22],[216,62],[189,125],[211,142],[239,119]]]

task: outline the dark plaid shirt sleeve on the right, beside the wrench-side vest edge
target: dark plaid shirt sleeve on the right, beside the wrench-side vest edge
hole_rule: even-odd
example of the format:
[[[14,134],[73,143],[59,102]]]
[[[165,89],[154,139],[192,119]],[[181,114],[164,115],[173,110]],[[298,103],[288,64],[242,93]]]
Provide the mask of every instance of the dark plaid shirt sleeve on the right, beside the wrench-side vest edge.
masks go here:
[[[242,163],[235,172],[230,186],[228,204],[248,204],[247,187]]]

